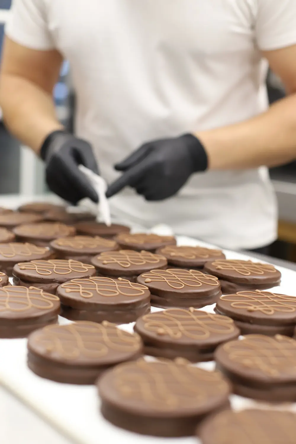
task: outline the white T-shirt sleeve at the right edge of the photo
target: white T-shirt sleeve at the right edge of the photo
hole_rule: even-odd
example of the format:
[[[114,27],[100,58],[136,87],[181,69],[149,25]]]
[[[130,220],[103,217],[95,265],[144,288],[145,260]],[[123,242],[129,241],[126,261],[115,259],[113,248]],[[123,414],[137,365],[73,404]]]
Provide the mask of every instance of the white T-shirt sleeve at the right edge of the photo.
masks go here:
[[[257,0],[256,36],[263,51],[296,44],[296,0]]]

